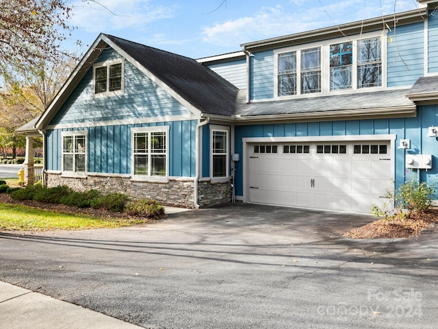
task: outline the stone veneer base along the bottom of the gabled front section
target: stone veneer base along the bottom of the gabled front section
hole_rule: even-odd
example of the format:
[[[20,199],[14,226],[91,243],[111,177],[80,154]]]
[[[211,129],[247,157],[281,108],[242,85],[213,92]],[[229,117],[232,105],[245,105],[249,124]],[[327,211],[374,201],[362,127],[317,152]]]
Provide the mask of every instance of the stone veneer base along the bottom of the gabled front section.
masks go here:
[[[61,173],[46,173],[47,187],[66,185],[75,191],[99,190],[102,193],[125,193],[133,198],[154,199],[167,206],[195,208],[194,179],[170,178],[167,182],[132,180],[129,175],[88,173],[72,177]],[[231,184],[227,182],[198,182],[198,204],[201,208],[231,202]]]

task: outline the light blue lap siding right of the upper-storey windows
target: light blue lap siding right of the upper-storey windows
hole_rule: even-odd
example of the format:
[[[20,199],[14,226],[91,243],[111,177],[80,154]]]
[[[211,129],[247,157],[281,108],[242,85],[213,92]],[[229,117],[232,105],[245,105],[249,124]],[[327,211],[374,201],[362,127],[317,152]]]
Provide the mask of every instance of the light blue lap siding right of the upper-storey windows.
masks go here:
[[[424,23],[396,26],[388,37],[387,86],[412,86],[424,75]]]

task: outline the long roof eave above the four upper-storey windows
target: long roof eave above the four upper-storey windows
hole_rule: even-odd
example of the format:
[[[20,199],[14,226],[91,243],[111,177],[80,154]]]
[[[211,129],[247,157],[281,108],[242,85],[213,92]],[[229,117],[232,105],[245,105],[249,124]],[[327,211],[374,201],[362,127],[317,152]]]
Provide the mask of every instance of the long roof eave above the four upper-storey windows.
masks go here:
[[[270,49],[274,47],[287,47],[298,45],[302,42],[314,42],[318,40],[325,40],[326,38],[337,38],[348,36],[352,34],[360,34],[365,32],[375,31],[376,29],[394,26],[394,21],[398,25],[414,23],[417,21],[424,21],[427,16],[427,8],[419,8],[409,12],[401,12],[374,19],[366,19],[353,23],[346,23],[342,25],[335,25],[331,27],[324,27],[322,29],[315,29],[313,31],[301,32],[297,34],[290,34],[288,36],[281,36],[277,38],[270,38],[255,42],[247,42],[240,45],[244,51],[255,51]]]

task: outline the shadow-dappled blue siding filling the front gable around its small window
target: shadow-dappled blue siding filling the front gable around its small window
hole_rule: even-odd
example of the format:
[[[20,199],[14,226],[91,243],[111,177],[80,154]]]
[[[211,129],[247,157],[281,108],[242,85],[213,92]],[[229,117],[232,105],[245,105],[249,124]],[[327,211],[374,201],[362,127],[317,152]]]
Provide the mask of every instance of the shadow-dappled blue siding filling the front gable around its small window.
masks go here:
[[[96,63],[120,58],[112,49],[103,51]],[[77,88],[51,120],[50,126],[96,121],[170,117],[191,114],[166,90],[157,86],[133,64],[125,60],[123,95],[94,97],[93,70],[86,73]]]

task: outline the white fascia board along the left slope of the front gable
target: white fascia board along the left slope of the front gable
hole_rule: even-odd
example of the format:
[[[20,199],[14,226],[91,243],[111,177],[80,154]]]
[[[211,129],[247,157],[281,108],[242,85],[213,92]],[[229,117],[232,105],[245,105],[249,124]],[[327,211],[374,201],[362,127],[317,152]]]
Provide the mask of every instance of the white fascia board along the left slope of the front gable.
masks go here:
[[[87,53],[77,64],[73,72],[70,74],[70,77],[68,77],[67,81],[64,83],[64,86],[62,86],[53,101],[51,101],[47,110],[45,110],[44,113],[41,114],[40,119],[35,124],[37,130],[44,129],[44,125],[46,125],[47,121],[51,119],[51,114],[54,114],[53,112],[57,112],[57,110],[60,109],[60,106],[62,106],[62,103],[66,101],[67,97],[73,91],[74,87],[76,87],[79,81],[83,78],[83,76],[86,75],[88,69],[90,69],[90,67],[92,66],[92,62],[94,62],[94,60],[90,60],[90,58],[97,58],[98,56],[96,56],[96,54],[103,51],[103,49],[99,49],[98,47],[102,40],[103,34],[100,34],[93,42],[90,49],[88,49]]]

